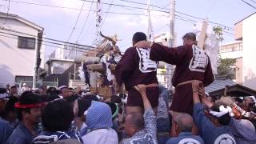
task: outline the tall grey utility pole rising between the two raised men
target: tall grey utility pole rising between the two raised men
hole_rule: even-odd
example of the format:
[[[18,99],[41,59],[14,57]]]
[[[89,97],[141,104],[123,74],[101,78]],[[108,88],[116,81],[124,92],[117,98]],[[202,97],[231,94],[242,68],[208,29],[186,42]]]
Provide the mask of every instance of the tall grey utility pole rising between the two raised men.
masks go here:
[[[170,39],[169,46],[174,47],[174,20],[175,20],[175,0],[170,0]],[[168,78],[168,89],[172,89],[171,78],[173,76],[174,66],[167,64],[166,65]]]

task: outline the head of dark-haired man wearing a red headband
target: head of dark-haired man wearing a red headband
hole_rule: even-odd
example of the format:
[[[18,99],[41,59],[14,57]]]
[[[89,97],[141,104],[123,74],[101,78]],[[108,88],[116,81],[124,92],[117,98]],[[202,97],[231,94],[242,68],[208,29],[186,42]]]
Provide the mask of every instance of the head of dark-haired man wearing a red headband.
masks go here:
[[[31,91],[22,93],[18,102],[14,105],[17,108],[18,120],[30,123],[40,122],[41,108],[44,104],[38,94],[34,94]]]

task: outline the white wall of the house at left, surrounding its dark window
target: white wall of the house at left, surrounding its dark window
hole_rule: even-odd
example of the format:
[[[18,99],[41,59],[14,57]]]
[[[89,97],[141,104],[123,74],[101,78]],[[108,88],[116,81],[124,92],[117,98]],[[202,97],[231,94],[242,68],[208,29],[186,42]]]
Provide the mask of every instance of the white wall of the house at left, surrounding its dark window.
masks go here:
[[[0,18],[0,23],[5,21],[4,18]],[[21,31],[26,34],[37,35],[38,30],[18,20],[8,19],[5,25],[2,25],[10,30]],[[6,32],[1,30],[1,32]],[[11,32],[7,32],[11,33]],[[17,33],[13,33],[16,34]],[[6,38],[2,35],[5,35]],[[18,34],[20,36],[26,36]],[[26,36],[28,37],[28,36]],[[37,39],[36,39],[37,42]],[[35,66],[37,44],[34,50],[26,50],[18,48],[18,37],[9,34],[0,33],[0,83],[14,84],[14,78],[16,75],[21,76],[33,76]]]

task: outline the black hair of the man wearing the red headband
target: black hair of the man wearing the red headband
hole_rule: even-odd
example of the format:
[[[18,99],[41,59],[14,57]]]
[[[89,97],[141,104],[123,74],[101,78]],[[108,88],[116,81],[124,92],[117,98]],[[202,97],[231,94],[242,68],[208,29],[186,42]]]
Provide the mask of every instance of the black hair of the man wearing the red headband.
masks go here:
[[[40,103],[42,102],[42,100],[38,94],[34,94],[32,91],[25,91],[18,98],[18,102],[22,105],[29,105],[29,104]],[[30,108],[17,110],[17,118],[19,121],[22,121],[22,111],[25,111],[26,113],[30,113]]]

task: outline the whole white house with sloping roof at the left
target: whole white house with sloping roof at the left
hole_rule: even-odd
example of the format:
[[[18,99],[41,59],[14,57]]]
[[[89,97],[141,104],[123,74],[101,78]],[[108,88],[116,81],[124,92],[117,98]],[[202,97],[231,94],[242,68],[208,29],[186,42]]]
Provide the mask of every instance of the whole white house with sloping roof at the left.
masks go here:
[[[33,86],[43,66],[42,26],[15,14],[0,13],[0,83]],[[33,82],[34,80],[34,82]]]

